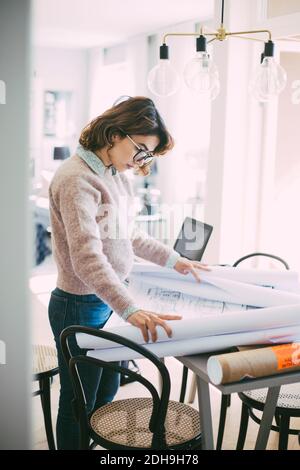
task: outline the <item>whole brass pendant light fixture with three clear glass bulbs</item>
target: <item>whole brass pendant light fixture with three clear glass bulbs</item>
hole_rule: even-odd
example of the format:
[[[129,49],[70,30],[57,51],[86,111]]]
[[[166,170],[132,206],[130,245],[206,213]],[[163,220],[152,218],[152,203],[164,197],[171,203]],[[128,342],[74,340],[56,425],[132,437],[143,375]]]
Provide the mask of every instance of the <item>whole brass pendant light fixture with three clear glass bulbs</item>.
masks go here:
[[[179,74],[172,66],[169,59],[169,36],[198,36],[196,39],[196,56],[185,66],[183,76],[187,87],[198,94],[206,94],[214,100],[220,92],[219,72],[211,55],[207,52],[207,44],[213,41],[225,41],[228,37],[237,37],[249,40],[262,41],[258,38],[247,37],[249,34],[267,34],[268,41],[265,42],[262,53],[261,64],[254,71],[250,81],[250,91],[254,98],[259,101],[269,101],[278,96],[284,89],[287,76],[284,69],[275,62],[274,43],[272,34],[268,30],[237,31],[228,32],[224,28],[225,0],[222,0],[221,24],[216,32],[205,32],[201,27],[200,33],[166,33],[163,44],[160,46],[160,61],[148,75],[148,87],[156,96],[171,96],[178,91],[181,84]],[[207,37],[212,38],[207,41]]]

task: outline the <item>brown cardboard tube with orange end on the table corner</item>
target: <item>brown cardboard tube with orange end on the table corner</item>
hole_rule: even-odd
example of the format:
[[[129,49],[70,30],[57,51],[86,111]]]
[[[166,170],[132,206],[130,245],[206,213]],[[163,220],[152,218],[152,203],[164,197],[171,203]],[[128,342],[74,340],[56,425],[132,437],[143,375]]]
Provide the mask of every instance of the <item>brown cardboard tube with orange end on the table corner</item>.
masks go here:
[[[211,356],[207,373],[215,385],[300,370],[300,343]]]

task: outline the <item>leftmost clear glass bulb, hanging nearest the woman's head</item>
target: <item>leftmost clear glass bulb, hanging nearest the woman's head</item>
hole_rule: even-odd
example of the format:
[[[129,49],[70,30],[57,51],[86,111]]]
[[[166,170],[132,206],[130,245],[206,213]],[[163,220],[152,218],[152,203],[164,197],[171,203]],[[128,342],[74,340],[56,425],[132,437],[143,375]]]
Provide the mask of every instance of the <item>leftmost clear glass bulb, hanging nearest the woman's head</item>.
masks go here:
[[[169,59],[160,59],[148,75],[149,90],[156,96],[171,96],[180,88],[180,78]]]

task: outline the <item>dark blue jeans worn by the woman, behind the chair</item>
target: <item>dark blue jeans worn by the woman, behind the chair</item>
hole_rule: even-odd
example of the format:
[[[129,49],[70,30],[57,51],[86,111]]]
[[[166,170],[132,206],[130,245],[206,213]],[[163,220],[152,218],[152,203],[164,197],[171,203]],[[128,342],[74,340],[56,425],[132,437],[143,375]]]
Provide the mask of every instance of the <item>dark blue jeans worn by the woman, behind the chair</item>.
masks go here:
[[[79,448],[79,426],[72,410],[73,389],[67,364],[62,355],[59,335],[71,325],[84,325],[102,328],[109,319],[112,310],[94,294],[76,295],[56,287],[51,292],[48,307],[49,321],[54,334],[58,354],[60,397],[56,425],[57,448]],[[69,345],[73,355],[85,354],[77,346],[75,338],[70,336]],[[120,374],[108,369],[80,364],[80,378],[87,402],[87,413],[110,403],[120,384]]]

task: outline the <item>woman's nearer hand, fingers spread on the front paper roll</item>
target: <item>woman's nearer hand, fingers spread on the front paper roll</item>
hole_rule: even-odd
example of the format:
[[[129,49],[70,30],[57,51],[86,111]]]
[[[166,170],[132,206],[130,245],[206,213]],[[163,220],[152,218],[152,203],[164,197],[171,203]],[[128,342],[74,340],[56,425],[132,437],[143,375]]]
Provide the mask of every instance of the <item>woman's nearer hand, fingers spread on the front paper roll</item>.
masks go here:
[[[149,342],[149,331],[150,331],[151,339],[155,343],[155,341],[157,340],[157,330],[156,330],[157,325],[164,328],[169,338],[171,338],[172,330],[165,320],[181,320],[181,319],[182,319],[182,316],[180,315],[171,315],[171,314],[169,315],[169,314],[150,312],[148,310],[138,310],[137,312],[132,313],[127,318],[127,322],[133,326],[136,326],[137,328],[141,330],[146,343]]]

